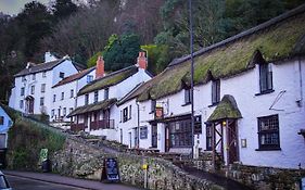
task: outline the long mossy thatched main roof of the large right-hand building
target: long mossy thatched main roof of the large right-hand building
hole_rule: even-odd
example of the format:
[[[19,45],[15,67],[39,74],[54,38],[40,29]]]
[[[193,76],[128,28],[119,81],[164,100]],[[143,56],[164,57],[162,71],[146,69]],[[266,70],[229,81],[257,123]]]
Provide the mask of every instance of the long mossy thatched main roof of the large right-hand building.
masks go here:
[[[305,4],[194,53],[194,85],[228,78],[254,68],[255,58],[280,64],[305,54]],[[150,85],[135,93],[139,101],[177,93],[190,85],[190,55],[174,60]],[[141,91],[139,93],[139,91]]]

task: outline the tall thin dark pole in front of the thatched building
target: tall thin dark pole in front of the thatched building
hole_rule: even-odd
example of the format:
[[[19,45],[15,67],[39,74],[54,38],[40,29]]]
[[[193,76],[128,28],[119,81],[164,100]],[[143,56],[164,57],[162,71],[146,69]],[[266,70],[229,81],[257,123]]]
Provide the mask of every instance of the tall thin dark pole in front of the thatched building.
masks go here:
[[[191,128],[192,128],[192,151],[191,156],[194,157],[194,59],[193,59],[193,17],[192,17],[192,0],[189,0],[189,22],[190,22],[190,51],[191,51]]]

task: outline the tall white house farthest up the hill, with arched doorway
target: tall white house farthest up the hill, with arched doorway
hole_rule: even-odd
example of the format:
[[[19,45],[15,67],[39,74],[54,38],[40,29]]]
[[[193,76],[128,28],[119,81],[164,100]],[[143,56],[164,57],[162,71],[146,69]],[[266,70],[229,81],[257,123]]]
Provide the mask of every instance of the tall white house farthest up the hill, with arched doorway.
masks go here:
[[[9,105],[27,114],[48,114],[52,107],[52,87],[66,76],[78,73],[77,66],[68,56],[56,59],[50,52],[45,63],[28,63],[15,75]]]

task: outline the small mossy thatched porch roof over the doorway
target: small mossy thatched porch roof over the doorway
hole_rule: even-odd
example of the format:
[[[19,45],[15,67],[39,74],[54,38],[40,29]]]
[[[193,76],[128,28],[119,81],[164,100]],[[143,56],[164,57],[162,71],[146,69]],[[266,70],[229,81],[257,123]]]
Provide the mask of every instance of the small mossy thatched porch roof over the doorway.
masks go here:
[[[230,94],[225,94],[214,112],[208,117],[207,122],[217,122],[221,119],[241,118],[241,113],[238,109],[236,99]]]

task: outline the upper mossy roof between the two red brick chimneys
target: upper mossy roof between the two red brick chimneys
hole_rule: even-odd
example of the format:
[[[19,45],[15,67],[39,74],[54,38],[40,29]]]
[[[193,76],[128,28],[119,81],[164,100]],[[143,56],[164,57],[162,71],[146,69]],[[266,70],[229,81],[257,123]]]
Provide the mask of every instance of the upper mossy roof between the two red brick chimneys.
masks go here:
[[[111,86],[114,86],[116,84],[119,84],[120,81],[127,79],[128,77],[132,76],[138,72],[138,67],[136,65],[128,66],[126,68],[113,72],[102,78],[98,78],[85,87],[82,87],[79,92],[77,93],[78,96],[104,89]]]

